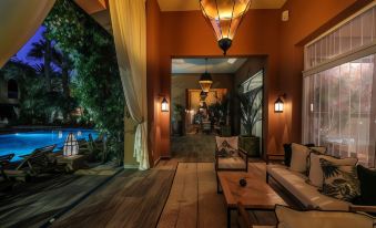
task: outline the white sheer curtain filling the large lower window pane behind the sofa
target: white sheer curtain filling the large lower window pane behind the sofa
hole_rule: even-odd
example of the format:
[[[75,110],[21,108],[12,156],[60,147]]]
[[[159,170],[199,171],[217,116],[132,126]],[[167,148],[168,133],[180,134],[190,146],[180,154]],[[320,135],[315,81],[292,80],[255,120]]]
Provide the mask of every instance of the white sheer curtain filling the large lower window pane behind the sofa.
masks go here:
[[[375,54],[304,77],[304,142],[375,166]]]

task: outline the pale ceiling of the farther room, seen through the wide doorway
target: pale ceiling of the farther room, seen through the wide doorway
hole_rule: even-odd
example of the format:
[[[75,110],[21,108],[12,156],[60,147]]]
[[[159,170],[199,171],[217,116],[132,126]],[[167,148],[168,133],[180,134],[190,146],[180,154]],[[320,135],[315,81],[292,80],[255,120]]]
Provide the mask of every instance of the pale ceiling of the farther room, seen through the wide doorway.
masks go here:
[[[209,73],[235,73],[246,61],[246,58],[207,59]],[[205,72],[205,59],[172,59],[173,74],[195,74]]]

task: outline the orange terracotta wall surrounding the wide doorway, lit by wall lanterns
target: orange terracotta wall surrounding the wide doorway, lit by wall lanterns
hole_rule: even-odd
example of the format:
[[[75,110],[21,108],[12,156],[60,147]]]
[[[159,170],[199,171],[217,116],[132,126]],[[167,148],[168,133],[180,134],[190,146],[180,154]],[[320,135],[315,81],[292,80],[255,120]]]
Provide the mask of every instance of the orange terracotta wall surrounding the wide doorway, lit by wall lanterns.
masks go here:
[[[333,25],[370,1],[287,0],[281,10],[251,10],[244,18],[227,55],[267,55],[264,112],[266,152],[280,153],[283,151],[283,143],[301,141],[302,41],[313,38],[323,28]],[[155,107],[157,91],[167,97],[171,91],[171,58],[220,56],[222,52],[200,11],[157,12],[156,0],[148,0],[148,49],[152,49],[148,51],[148,79],[149,85],[153,87],[149,93],[150,106]],[[288,22],[281,21],[284,9],[289,10]],[[159,43],[150,32],[159,33]],[[275,114],[274,101],[282,92],[288,95],[286,110],[283,114]],[[161,156],[170,155],[170,117],[157,115],[156,111],[149,115],[152,131],[160,131],[151,139],[154,158],[159,157],[159,153]],[[161,139],[157,141],[160,145],[155,143],[155,138]]]

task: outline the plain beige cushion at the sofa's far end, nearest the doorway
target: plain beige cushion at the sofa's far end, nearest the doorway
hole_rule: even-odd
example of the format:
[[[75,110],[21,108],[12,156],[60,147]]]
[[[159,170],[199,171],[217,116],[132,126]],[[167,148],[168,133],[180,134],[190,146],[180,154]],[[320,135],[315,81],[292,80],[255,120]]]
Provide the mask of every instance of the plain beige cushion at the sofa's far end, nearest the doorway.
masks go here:
[[[294,172],[305,173],[307,170],[307,157],[311,149],[304,145],[292,144],[292,159],[289,169]]]

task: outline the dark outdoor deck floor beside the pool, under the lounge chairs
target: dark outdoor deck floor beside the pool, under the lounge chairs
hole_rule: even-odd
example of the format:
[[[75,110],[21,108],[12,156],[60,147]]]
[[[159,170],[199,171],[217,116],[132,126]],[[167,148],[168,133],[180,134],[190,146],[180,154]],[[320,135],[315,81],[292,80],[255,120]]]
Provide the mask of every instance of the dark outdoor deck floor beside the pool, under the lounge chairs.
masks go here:
[[[113,172],[111,172],[111,170]],[[52,174],[32,183],[18,183],[0,191],[0,227],[40,227],[114,173],[112,167],[98,174]],[[1,185],[3,186],[3,185]]]

